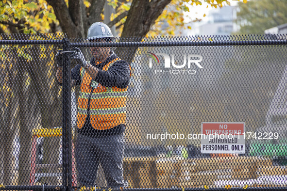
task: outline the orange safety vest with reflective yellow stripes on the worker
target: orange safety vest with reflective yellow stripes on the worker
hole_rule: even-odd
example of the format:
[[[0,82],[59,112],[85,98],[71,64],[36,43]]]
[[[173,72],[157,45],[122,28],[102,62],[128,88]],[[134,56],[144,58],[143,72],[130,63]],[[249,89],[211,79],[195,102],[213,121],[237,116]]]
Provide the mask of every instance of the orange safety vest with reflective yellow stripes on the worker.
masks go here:
[[[106,64],[102,70],[107,71],[111,65],[119,60],[119,58],[112,60]],[[92,80],[91,76],[85,72],[83,67],[81,67],[80,74],[82,82],[78,98],[78,128],[84,126],[88,114],[88,107],[90,122],[95,129],[109,129],[118,126],[119,124],[124,124],[126,120],[128,87],[124,89],[118,87],[104,87]],[[89,99],[90,104],[88,104]]]

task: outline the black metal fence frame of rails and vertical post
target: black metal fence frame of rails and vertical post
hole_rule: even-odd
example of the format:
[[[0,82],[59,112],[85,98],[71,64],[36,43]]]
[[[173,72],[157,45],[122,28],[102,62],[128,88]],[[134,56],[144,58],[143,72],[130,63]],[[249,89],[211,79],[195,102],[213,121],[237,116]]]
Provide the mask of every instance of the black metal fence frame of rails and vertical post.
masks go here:
[[[258,35],[260,37],[260,35]],[[225,37],[225,36],[223,36]],[[238,36],[236,36],[238,37]],[[206,39],[206,38],[204,38]],[[219,38],[220,39],[220,38]],[[236,38],[238,39],[238,38]],[[240,36],[239,36],[240,39]],[[252,39],[252,38],[251,38]],[[109,43],[71,43],[68,38],[63,40],[0,40],[0,45],[62,45],[63,51],[68,51],[73,47],[186,47],[186,46],[254,46],[254,45],[287,45],[287,39],[281,40],[235,40],[235,41],[189,41],[189,42],[109,42]],[[70,70],[71,63],[67,54],[64,54],[63,65],[63,121],[62,121],[62,152],[63,164],[62,186],[11,186],[0,185],[0,190],[33,190],[33,191],[72,191],[80,187],[72,186],[72,130],[71,130],[71,87],[70,87]],[[64,154],[66,153],[66,155]],[[98,190],[98,189],[97,189]],[[108,190],[108,189],[99,189]],[[225,188],[142,188],[142,189],[124,189],[134,191],[192,191],[192,190],[226,190]],[[231,188],[229,190],[242,190]],[[248,187],[244,190],[287,190],[287,187]]]

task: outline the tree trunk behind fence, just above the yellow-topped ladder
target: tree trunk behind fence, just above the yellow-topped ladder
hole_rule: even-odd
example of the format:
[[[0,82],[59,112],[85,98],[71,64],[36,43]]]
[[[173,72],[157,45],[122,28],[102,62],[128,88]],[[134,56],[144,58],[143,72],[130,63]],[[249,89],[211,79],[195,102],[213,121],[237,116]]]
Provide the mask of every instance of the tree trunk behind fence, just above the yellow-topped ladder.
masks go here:
[[[48,45],[50,46],[50,45]],[[38,46],[31,48],[30,52],[33,54],[34,67],[28,68],[27,72],[31,78],[31,84],[33,89],[33,95],[35,95],[35,105],[39,108],[41,116],[41,127],[53,128],[61,126],[62,124],[62,104],[58,99],[59,85],[57,82],[52,83],[55,78],[54,70],[48,62],[51,59],[48,57],[47,60],[40,60],[40,54],[50,55],[50,51],[41,52]],[[50,48],[46,47],[46,50]],[[51,72],[52,74],[48,74]],[[51,84],[53,84],[51,86]],[[58,163],[58,148],[59,148],[60,137],[45,137],[43,139],[43,163],[55,164]],[[49,172],[52,169],[48,169]],[[57,180],[49,179],[49,184],[57,184]],[[45,180],[46,181],[46,180]]]

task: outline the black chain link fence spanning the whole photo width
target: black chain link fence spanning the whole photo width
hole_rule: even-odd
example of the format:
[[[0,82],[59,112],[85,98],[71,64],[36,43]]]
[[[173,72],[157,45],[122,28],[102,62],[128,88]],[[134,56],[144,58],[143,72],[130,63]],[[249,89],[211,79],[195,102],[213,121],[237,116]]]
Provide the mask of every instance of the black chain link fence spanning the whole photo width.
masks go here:
[[[0,35],[0,190],[286,189],[287,35],[109,40]]]

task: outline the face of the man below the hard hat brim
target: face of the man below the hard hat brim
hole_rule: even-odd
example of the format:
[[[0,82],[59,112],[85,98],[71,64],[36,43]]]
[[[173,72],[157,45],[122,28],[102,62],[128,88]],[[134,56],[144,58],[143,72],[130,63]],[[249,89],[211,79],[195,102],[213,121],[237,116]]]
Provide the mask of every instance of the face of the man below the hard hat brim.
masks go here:
[[[99,42],[104,43],[106,41],[103,38],[99,38],[99,39],[90,40],[90,42],[91,43],[99,43]],[[95,58],[95,60],[98,62],[105,61],[110,56],[110,51],[111,51],[111,48],[109,47],[91,47],[92,55]]]

